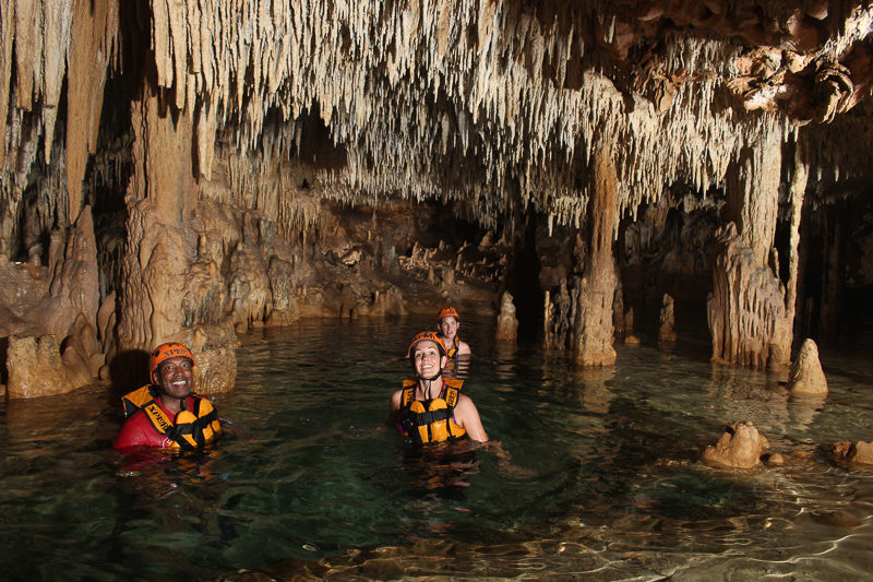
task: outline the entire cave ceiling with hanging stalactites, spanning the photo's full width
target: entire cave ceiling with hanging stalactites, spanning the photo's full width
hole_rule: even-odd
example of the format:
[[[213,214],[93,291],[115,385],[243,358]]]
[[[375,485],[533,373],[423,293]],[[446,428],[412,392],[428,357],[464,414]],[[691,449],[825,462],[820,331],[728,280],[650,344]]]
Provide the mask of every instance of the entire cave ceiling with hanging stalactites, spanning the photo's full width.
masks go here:
[[[486,227],[578,225],[595,151],[620,215],[718,187],[774,138],[863,178],[871,22],[868,2],[823,0],[0,0],[0,211],[55,164],[74,218],[118,80],[190,119],[201,182],[230,150],[231,178],[308,152],[322,195],[455,201]]]

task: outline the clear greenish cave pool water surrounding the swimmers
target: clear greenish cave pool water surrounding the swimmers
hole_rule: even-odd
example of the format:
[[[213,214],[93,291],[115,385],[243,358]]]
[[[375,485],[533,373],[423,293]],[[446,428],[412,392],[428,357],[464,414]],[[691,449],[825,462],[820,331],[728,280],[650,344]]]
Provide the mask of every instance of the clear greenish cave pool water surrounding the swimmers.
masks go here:
[[[820,443],[873,440],[873,363],[823,354],[830,394],[714,366],[708,346],[620,346],[578,370],[474,348],[465,392],[501,447],[422,455],[383,426],[429,322],[304,322],[241,338],[226,437],[179,458],[110,450],[119,394],[0,405],[0,567],[15,580],[523,578],[862,580],[873,472]],[[752,420],[780,468],[696,463]],[[240,573],[247,570],[249,573]]]

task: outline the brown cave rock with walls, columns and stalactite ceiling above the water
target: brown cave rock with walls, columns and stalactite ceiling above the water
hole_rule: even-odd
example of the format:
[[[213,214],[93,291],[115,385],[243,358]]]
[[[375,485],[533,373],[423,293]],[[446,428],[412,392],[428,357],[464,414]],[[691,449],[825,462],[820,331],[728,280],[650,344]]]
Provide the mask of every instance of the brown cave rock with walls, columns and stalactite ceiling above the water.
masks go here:
[[[21,342],[124,383],[183,338],[217,391],[252,326],[504,288],[583,365],[663,294],[708,306],[717,359],[838,337],[869,278],[873,12],[692,4],[0,0],[10,395],[53,366]]]

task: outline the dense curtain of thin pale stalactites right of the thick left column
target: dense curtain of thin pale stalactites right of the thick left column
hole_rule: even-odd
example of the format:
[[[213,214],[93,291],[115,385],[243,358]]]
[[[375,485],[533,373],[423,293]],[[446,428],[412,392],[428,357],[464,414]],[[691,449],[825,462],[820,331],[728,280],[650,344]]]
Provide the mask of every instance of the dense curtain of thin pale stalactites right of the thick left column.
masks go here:
[[[587,198],[585,190],[569,186],[573,181],[566,179],[566,161],[579,146],[590,155],[590,144],[602,132],[626,144],[613,157],[621,209],[633,210],[657,200],[657,185],[663,181],[690,180],[702,190],[720,182],[740,147],[755,142],[769,126],[781,124],[776,118],[764,123],[743,119],[731,108],[710,109],[714,97],[726,91],[722,80],[730,78],[729,63],[738,49],[680,34],[667,37],[659,67],[667,74],[682,71],[686,81],[672,106],[659,115],[646,107],[626,110],[624,95],[594,70],[583,73],[581,91],[563,88],[566,69],[575,63],[571,59],[590,44],[584,32],[589,19],[614,31],[615,17],[608,10],[601,15],[579,11],[575,21],[557,26],[539,22],[533,12],[475,0],[421,7],[337,1],[266,5],[202,2],[183,13],[155,0],[158,82],[175,87],[177,105],[189,108],[193,104],[186,104],[184,86],[195,83],[199,95],[208,95],[219,124],[246,120],[239,124],[248,135],[241,151],[254,146],[271,109],[283,112],[288,139],[294,139],[290,121],[316,106],[334,141],[347,149],[347,167],[322,176],[343,195],[399,190],[415,199],[488,200],[483,206],[469,205],[492,226],[505,207],[500,200],[505,176],[516,177],[523,192],[565,189],[570,197]],[[760,17],[782,16],[774,10]],[[725,29],[740,29],[725,16],[719,22]],[[461,26],[475,26],[475,46]],[[179,47],[184,37],[200,49]],[[319,43],[308,41],[315,37]],[[579,47],[576,57],[574,46]],[[555,76],[546,76],[547,70]],[[384,74],[372,74],[379,71]],[[250,75],[248,85],[243,73]],[[433,103],[452,106],[454,123],[447,124],[444,110]],[[439,127],[442,131],[431,130]],[[199,135],[199,143],[208,143],[215,126],[203,123],[198,131],[207,134]],[[475,153],[485,166],[470,164],[458,171],[432,152]],[[202,166],[208,168],[208,152],[202,154],[207,158]],[[382,161],[382,167],[372,167],[372,159]],[[529,204],[551,213],[539,194]],[[553,214],[560,224],[577,224],[584,206],[570,204]]]

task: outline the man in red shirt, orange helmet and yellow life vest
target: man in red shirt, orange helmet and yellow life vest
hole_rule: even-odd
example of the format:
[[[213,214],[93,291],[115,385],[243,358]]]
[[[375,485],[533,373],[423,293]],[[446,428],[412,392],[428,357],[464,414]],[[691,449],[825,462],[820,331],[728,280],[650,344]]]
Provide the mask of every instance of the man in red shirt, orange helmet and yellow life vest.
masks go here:
[[[222,433],[218,415],[207,399],[192,392],[194,356],[182,344],[166,343],[148,358],[152,384],[125,394],[128,419],[112,447],[194,450]]]

